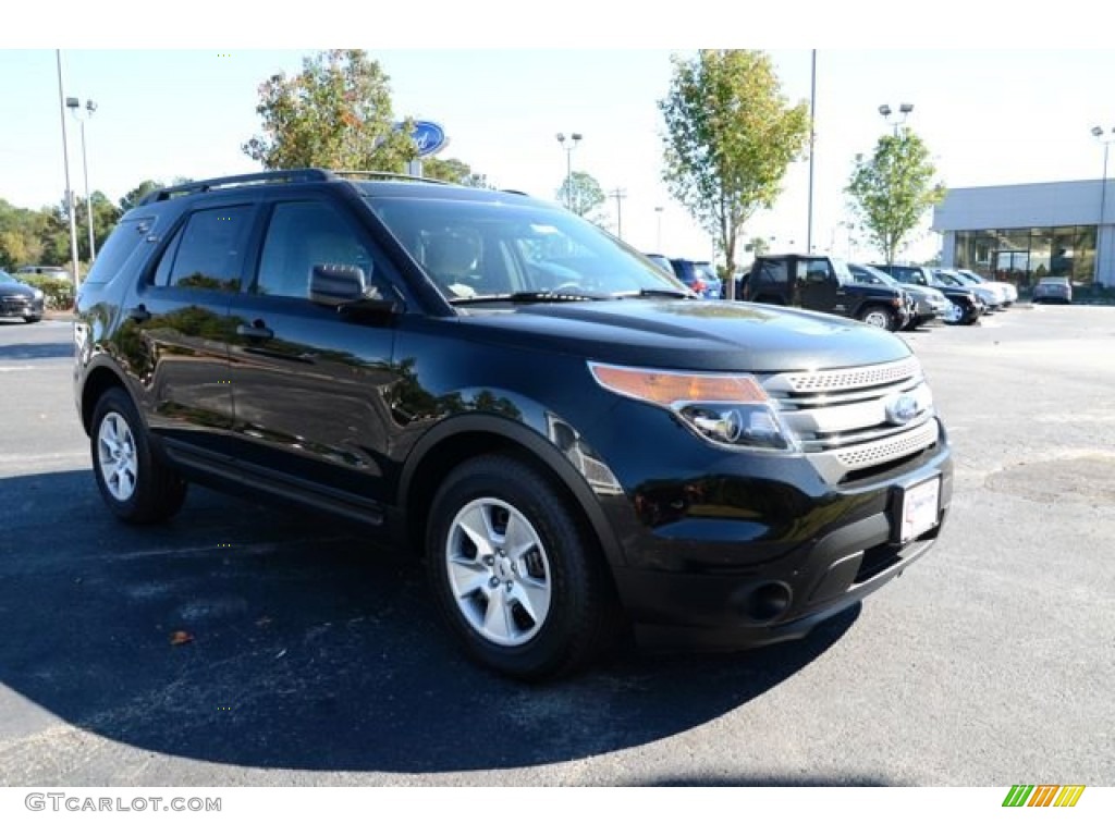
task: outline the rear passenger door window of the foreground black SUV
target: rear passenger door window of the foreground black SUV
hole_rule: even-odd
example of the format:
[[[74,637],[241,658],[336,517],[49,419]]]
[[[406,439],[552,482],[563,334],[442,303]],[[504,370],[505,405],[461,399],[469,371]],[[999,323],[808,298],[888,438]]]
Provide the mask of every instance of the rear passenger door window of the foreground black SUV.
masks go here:
[[[155,272],[155,283],[204,290],[239,290],[251,218],[251,206],[194,212],[185,229],[163,253]]]

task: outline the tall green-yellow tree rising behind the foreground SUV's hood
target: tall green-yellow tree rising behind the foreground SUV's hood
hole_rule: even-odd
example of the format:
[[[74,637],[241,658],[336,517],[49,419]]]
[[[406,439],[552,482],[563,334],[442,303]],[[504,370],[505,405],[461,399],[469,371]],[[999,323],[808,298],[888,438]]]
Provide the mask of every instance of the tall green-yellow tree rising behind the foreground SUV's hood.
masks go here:
[[[744,224],[774,204],[805,145],[808,106],[789,106],[765,52],[702,49],[692,59],[673,58],[670,90],[658,107],[666,121],[662,178],[734,274]]]

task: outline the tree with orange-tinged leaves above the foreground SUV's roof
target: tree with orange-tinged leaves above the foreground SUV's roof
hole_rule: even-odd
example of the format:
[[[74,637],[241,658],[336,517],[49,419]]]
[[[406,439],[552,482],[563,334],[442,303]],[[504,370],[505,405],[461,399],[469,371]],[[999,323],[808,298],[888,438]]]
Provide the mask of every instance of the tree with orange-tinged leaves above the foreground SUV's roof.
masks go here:
[[[418,149],[409,120],[394,127],[388,80],[361,49],[303,58],[293,78],[280,72],[260,85],[263,133],[243,150],[264,168],[401,172]]]

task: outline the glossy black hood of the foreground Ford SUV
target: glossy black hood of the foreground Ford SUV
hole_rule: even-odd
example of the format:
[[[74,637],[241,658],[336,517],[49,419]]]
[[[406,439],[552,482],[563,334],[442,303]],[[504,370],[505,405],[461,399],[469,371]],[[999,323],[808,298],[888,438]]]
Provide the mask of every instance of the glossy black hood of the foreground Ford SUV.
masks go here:
[[[697,300],[615,300],[468,309],[469,339],[628,366],[705,371],[787,371],[890,362],[899,338],[842,317],[775,305]]]

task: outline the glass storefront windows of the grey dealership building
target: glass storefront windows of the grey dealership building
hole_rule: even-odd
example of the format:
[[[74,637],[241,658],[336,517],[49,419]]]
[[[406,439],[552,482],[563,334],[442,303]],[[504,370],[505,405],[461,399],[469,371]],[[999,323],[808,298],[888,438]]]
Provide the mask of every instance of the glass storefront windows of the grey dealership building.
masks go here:
[[[1019,288],[1030,288],[1047,275],[1065,275],[1090,284],[1096,266],[1096,227],[958,232],[956,264]]]

